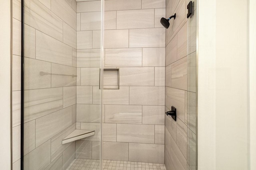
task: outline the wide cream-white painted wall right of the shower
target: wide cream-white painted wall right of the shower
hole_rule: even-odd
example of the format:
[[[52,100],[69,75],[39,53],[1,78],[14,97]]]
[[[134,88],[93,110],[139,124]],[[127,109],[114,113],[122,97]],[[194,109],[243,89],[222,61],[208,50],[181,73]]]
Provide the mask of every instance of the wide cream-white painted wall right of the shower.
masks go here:
[[[248,0],[198,2],[198,169],[248,169]]]

